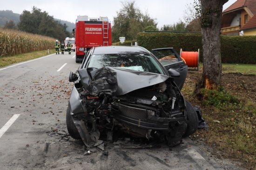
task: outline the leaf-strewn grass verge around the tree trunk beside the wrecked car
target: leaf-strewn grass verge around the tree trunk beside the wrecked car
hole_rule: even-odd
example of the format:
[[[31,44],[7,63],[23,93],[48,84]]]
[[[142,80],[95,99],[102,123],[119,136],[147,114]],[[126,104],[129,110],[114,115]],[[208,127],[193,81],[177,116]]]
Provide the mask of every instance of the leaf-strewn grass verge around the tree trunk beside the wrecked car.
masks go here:
[[[209,124],[209,131],[198,130],[190,138],[209,144],[219,158],[229,158],[247,170],[256,170],[256,65],[223,64],[222,70],[224,89],[205,92],[213,95],[208,96],[207,102],[198,101],[193,93],[202,70],[188,72],[182,93],[202,109]]]

